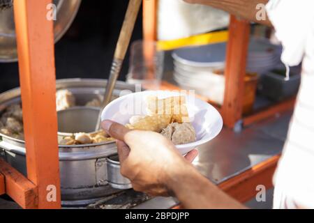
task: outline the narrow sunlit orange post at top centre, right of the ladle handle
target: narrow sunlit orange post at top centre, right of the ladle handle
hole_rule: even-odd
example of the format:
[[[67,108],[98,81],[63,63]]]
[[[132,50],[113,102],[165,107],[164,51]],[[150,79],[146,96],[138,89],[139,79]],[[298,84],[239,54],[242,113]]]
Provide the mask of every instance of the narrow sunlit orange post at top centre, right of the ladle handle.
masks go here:
[[[158,0],[143,0],[143,37],[145,41],[157,40]]]

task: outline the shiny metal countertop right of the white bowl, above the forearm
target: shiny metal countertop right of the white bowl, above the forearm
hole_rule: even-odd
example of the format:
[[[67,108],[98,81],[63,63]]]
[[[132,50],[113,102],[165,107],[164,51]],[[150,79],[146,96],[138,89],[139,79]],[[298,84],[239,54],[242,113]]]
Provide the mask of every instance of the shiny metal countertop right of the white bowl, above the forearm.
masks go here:
[[[241,133],[223,130],[216,139],[198,148],[200,155],[193,164],[204,176],[218,184],[281,153],[283,143],[251,128]]]

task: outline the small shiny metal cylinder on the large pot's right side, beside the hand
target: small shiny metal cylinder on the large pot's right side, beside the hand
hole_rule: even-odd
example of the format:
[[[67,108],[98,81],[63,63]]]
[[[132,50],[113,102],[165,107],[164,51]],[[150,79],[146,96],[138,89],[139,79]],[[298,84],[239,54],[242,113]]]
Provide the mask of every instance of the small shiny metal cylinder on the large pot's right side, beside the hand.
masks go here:
[[[119,157],[113,156],[107,158],[107,179],[108,183],[116,189],[126,190],[132,188],[130,180],[120,174],[121,166]]]

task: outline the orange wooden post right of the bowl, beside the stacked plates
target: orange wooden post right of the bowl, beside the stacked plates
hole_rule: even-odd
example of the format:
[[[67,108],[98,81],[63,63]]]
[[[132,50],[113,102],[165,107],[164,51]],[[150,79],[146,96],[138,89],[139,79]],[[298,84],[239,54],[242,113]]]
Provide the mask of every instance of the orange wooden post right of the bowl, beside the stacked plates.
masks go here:
[[[242,118],[249,38],[250,24],[232,15],[227,43],[225,100],[222,108],[223,121],[228,128],[234,128],[234,125]]]

